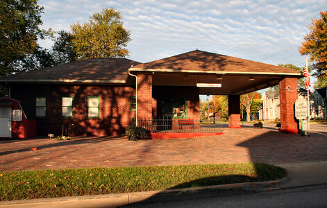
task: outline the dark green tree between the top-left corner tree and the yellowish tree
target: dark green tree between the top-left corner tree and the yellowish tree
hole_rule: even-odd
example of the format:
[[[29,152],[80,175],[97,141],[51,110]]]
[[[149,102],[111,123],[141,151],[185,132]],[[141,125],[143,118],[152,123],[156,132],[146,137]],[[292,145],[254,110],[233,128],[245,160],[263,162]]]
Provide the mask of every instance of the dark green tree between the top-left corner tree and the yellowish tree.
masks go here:
[[[73,45],[74,35],[67,31],[59,31],[52,46],[53,60],[56,65],[77,60],[76,49]]]

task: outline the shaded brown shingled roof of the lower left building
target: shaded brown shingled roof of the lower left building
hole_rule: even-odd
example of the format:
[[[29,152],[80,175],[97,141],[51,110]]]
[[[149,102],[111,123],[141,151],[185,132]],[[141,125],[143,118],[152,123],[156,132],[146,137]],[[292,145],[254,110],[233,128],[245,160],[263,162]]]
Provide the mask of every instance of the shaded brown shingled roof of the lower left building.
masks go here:
[[[127,58],[92,58],[56,67],[13,74],[0,78],[7,82],[124,83],[128,68],[140,64]]]

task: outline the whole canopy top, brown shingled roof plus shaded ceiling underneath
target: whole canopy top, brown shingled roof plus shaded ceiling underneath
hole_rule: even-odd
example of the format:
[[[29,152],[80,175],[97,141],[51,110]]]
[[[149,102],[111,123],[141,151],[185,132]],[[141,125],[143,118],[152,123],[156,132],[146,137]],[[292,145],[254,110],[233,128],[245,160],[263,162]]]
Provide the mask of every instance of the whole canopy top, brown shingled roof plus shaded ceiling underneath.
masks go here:
[[[221,84],[221,87],[204,85],[199,88],[200,94],[245,94],[278,85],[283,78],[302,76],[295,69],[199,50],[138,64],[129,71],[151,72],[153,85],[160,86]]]

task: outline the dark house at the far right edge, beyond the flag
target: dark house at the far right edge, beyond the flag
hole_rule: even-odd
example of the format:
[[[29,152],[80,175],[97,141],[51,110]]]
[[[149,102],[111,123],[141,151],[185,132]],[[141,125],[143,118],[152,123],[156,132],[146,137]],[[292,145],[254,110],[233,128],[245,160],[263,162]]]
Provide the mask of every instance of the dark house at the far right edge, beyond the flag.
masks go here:
[[[315,119],[327,119],[327,87],[315,89],[313,92]]]

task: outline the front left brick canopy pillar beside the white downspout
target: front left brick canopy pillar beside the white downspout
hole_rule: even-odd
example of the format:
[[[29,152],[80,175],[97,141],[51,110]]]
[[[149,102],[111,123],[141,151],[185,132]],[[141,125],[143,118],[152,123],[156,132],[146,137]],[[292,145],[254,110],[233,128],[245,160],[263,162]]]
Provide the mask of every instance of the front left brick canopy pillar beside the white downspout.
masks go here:
[[[152,118],[152,74],[137,74],[137,119]]]

